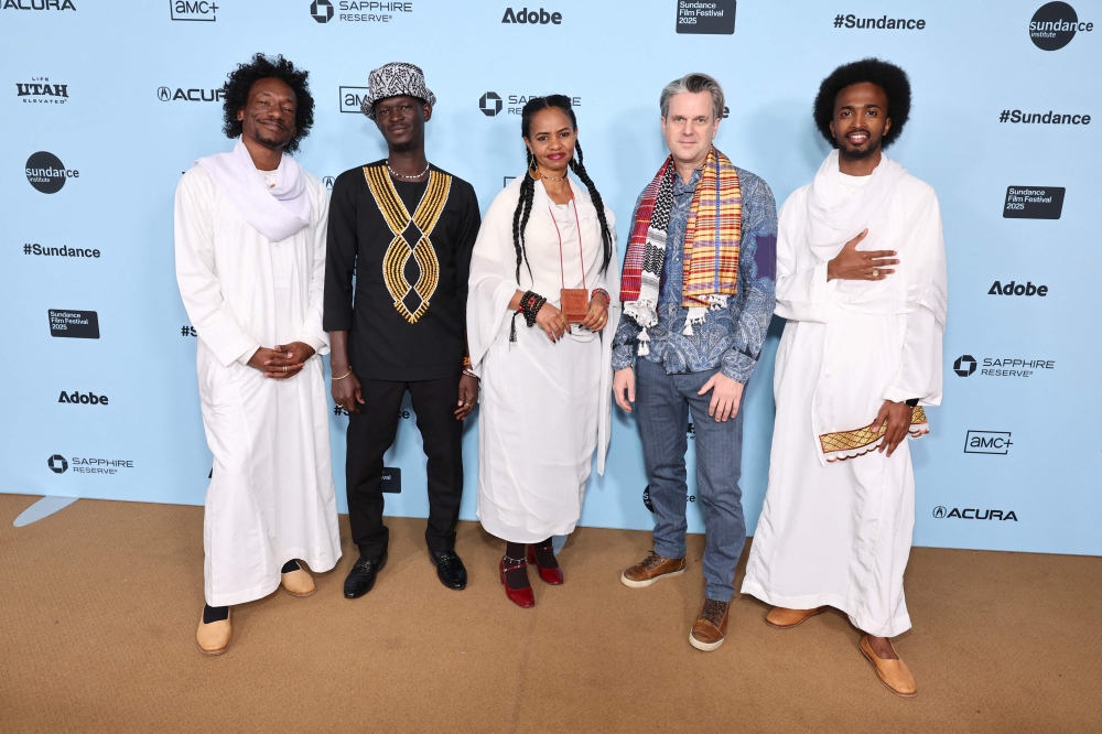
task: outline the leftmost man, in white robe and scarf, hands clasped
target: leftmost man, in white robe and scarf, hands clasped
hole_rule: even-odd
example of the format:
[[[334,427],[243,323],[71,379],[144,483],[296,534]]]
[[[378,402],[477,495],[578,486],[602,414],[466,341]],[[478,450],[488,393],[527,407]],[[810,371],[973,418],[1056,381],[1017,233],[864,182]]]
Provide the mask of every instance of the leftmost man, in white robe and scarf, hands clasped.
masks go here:
[[[199,650],[229,646],[229,607],[282,585],[314,593],[300,565],[341,558],[321,354],[325,186],[289,155],[306,136],[307,73],[257,54],[229,75],[224,131],[176,188],[176,281],[198,344],[214,468],[203,546]]]

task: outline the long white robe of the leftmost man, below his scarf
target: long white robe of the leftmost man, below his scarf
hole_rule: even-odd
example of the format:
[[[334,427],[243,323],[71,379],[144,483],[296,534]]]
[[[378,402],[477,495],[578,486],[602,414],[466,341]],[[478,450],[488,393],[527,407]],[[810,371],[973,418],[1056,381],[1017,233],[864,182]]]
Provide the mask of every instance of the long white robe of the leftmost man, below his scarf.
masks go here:
[[[305,176],[310,224],[276,242],[245,220],[203,166],[176,188],[176,280],[198,332],[203,425],[214,454],[203,528],[210,606],[270,594],[292,559],[323,572],[341,558],[321,358],[328,352],[328,197]],[[290,342],[317,353],[294,377],[266,378],[246,366],[258,347]]]

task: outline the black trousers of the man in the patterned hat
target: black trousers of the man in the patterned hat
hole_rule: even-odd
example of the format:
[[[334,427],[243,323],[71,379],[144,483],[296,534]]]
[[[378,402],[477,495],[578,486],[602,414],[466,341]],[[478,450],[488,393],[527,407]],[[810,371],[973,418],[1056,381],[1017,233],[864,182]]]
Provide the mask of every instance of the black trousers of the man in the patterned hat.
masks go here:
[[[382,523],[382,455],[395,442],[402,398],[409,390],[429,460],[429,527],[424,540],[434,551],[455,549],[455,525],[463,495],[463,421],[455,420],[460,376],[393,382],[360,380],[364,404],[348,418],[345,478],[352,539],[366,558],[387,550],[390,531]]]

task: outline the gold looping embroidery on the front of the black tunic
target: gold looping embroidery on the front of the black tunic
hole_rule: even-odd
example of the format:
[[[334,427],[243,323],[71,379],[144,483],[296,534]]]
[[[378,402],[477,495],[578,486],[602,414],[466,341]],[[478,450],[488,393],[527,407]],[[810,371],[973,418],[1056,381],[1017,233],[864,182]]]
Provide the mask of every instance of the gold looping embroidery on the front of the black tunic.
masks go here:
[[[429,172],[429,185],[413,216],[410,216],[395,190],[386,165],[365,166],[364,177],[367,179],[382,218],[395,235],[382,257],[382,279],[390,298],[395,300],[395,309],[406,321],[415,324],[429,310],[429,301],[440,283],[440,262],[429,236],[447,203],[452,176],[439,171]],[[411,242],[411,239],[415,241]],[[410,258],[418,266],[415,283],[410,283],[406,278],[406,266]]]

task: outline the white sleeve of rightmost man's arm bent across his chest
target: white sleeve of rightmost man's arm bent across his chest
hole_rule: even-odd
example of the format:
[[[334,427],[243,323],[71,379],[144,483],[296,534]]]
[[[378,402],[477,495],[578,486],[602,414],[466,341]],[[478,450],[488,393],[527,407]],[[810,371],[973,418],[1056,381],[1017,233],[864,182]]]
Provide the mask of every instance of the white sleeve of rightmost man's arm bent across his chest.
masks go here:
[[[802,191],[795,192],[777,216],[777,309],[789,321],[827,322],[827,304],[838,281],[827,280],[827,263],[813,265],[804,234]],[[800,256],[803,257],[800,257]]]

